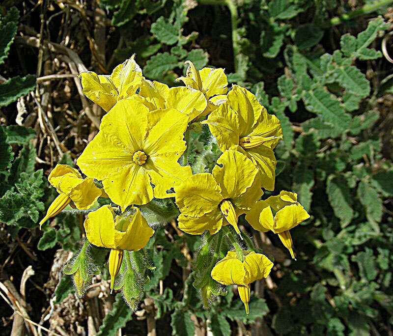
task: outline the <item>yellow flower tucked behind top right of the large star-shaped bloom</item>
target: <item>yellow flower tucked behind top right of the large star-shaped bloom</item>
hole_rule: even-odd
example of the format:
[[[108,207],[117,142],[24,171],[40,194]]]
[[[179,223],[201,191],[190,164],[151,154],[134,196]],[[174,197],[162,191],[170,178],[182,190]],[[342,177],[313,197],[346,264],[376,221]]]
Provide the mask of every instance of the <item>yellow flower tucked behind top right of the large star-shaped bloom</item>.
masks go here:
[[[160,82],[142,80],[140,96],[151,104],[150,110],[173,108],[189,116],[192,121],[207,107],[207,101],[202,92],[184,86],[169,88]]]

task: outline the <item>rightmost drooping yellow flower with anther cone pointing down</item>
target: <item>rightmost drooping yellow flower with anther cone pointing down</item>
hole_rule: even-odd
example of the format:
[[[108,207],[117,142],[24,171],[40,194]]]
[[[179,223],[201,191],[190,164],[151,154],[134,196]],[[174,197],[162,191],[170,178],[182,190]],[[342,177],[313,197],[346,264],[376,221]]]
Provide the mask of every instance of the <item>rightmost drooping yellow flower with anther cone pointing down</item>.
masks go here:
[[[310,217],[297,199],[297,194],[281,191],[278,196],[270,196],[266,200],[256,202],[251,211],[246,214],[247,222],[255,230],[262,232],[271,230],[277,233],[292,258],[295,258],[295,255],[289,230]]]

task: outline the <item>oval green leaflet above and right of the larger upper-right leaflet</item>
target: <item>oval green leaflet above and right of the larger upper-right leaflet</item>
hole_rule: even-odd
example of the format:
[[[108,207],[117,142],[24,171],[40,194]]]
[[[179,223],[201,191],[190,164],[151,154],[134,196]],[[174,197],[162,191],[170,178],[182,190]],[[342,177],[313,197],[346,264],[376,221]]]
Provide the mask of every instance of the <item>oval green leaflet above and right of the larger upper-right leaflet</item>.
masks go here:
[[[356,66],[340,66],[336,68],[334,74],[337,82],[348,92],[362,97],[366,97],[370,93],[370,83]]]

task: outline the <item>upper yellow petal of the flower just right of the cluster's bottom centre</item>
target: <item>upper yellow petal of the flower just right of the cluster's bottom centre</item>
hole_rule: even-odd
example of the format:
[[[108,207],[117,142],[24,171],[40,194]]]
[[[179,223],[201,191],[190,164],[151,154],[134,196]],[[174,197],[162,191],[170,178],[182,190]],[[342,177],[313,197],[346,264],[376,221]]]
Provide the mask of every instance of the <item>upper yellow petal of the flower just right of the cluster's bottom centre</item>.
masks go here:
[[[213,176],[224,198],[230,198],[241,209],[250,209],[262,195],[260,186],[254,184],[254,180],[259,178],[258,174],[253,162],[236,150],[226,150],[213,168]]]

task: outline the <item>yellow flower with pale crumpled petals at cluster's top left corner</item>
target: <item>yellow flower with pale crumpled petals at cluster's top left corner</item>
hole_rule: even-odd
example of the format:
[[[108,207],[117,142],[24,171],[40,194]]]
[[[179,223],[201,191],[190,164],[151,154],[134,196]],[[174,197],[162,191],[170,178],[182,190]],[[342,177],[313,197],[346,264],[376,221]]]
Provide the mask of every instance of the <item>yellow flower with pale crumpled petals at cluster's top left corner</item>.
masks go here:
[[[132,96],[140,87],[142,70],[134,58],[135,55],[116,66],[111,76],[82,73],[82,92],[108,112],[118,100]]]

